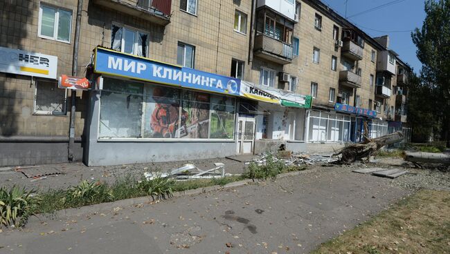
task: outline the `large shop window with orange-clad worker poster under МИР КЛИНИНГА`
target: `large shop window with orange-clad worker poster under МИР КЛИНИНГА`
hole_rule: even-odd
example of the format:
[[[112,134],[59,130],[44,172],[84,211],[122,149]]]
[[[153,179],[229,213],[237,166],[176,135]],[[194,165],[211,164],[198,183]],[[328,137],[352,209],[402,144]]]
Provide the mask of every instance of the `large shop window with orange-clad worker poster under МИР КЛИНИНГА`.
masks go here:
[[[104,78],[100,138],[233,139],[235,99]]]

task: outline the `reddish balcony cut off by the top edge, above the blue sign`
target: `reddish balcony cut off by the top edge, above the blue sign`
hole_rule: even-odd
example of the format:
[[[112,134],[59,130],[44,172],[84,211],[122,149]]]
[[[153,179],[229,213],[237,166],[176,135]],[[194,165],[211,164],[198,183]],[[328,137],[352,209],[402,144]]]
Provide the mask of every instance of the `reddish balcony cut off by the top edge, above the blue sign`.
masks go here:
[[[93,3],[161,26],[170,23],[172,0],[93,0]]]

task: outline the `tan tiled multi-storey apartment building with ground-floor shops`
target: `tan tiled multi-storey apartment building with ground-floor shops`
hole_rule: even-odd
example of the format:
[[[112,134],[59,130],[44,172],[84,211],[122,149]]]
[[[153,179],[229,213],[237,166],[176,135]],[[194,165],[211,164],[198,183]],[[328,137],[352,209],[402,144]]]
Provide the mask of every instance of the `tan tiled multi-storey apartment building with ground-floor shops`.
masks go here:
[[[323,150],[406,121],[408,66],[320,1],[79,1],[0,0],[1,166]]]

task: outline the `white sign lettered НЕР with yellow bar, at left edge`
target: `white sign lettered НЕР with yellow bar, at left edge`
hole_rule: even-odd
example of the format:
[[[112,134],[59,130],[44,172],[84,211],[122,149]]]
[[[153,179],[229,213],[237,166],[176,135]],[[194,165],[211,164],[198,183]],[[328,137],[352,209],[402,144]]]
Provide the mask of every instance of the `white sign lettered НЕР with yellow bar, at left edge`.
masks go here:
[[[0,72],[56,79],[57,57],[0,47]]]

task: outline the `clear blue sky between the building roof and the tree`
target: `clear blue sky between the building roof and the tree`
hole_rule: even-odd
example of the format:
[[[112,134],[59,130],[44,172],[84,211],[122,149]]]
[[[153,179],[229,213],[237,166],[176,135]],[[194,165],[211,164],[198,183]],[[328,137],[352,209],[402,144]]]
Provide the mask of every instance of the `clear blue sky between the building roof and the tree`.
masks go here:
[[[389,35],[389,48],[397,52],[402,61],[412,66],[414,72],[420,72],[422,64],[416,56],[417,48],[411,39],[411,30],[422,28],[422,23],[425,19],[424,0],[321,1],[343,17],[345,17],[345,1],[348,1],[347,17],[352,23],[372,37]],[[384,4],[389,5],[359,14]]]

